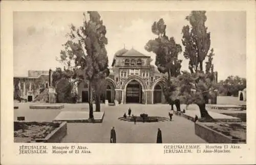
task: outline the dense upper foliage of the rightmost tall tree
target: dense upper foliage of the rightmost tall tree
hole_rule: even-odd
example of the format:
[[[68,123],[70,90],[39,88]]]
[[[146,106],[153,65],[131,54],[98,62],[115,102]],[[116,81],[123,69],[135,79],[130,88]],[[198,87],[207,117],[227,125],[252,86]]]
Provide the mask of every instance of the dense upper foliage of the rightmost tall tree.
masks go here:
[[[189,70],[191,73],[203,71],[203,61],[210,48],[210,33],[207,32],[205,21],[206,11],[192,11],[186,16],[190,27],[182,29],[182,44],[185,46],[184,57],[189,59]]]

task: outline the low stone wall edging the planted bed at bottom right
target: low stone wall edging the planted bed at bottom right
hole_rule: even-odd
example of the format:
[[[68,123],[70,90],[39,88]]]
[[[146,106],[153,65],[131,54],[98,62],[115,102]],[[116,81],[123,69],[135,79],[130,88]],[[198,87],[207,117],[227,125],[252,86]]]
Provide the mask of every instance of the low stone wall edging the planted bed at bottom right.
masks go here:
[[[215,131],[207,126],[207,123],[195,123],[195,133],[208,143],[226,143],[226,144],[237,144],[246,143],[245,139],[232,139],[218,131]]]

